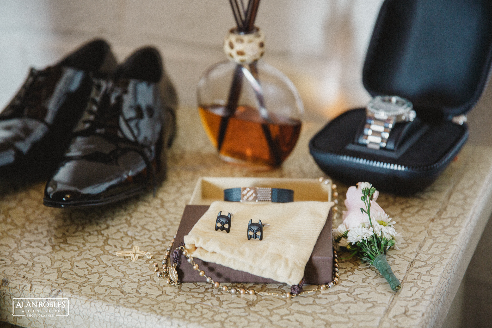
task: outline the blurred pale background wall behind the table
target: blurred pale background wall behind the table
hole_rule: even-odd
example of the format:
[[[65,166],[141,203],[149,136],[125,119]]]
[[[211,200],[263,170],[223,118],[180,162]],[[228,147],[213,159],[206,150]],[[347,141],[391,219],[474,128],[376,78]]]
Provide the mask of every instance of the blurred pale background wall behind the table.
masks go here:
[[[291,78],[306,119],[328,121],[365,105],[362,65],[382,0],[263,0],[257,26],[266,61]],[[0,109],[30,66],[43,68],[93,37],[119,60],[154,45],[182,106],[195,106],[196,84],[224,60],[222,40],[234,21],[226,0],[0,0]],[[470,143],[492,146],[492,90],[470,113]],[[444,327],[491,327],[492,224],[480,240]],[[487,314],[488,313],[488,314]]]

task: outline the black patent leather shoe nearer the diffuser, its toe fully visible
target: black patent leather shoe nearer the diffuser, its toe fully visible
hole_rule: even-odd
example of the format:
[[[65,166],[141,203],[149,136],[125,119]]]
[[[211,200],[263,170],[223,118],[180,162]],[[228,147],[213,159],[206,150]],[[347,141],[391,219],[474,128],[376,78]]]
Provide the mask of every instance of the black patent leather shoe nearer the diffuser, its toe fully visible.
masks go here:
[[[94,79],[91,100],[43,204],[87,207],[154,189],[176,131],[176,92],[158,51],[143,48],[111,80]]]

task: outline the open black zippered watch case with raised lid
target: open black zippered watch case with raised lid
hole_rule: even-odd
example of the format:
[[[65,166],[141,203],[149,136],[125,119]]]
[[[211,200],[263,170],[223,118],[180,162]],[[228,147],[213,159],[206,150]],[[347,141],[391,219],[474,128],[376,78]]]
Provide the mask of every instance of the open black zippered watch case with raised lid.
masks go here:
[[[311,155],[349,185],[369,181],[399,194],[423,190],[466,142],[468,126],[456,118],[480,98],[491,61],[492,1],[385,0],[364,63],[364,87],[371,96],[408,99],[422,125],[400,150],[370,149],[355,142],[366,113],[353,109],[311,139]]]

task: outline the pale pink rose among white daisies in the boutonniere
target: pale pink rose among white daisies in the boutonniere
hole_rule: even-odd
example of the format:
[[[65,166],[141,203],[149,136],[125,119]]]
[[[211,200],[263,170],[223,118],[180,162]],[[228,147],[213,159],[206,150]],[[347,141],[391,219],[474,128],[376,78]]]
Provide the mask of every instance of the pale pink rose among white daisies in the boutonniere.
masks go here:
[[[345,199],[346,211],[343,211],[343,223],[350,229],[353,227],[358,227],[364,218],[367,218],[367,214],[362,215],[361,208],[366,209],[364,202],[361,200],[362,188],[359,182],[359,187],[351,186],[347,190],[347,198]],[[372,196],[372,201],[370,203],[370,214],[371,218],[374,217],[376,213],[384,213],[384,210],[376,203],[377,196],[379,196],[379,191],[376,190]]]

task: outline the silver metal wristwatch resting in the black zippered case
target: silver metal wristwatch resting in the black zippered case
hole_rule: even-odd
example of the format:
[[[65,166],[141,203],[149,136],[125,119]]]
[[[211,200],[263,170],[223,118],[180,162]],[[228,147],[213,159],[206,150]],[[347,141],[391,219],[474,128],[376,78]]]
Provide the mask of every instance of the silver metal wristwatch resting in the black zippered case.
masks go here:
[[[410,101],[398,96],[376,96],[366,106],[366,125],[360,142],[372,149],[385,148],[395,124],[415,117]]]

